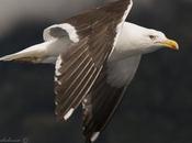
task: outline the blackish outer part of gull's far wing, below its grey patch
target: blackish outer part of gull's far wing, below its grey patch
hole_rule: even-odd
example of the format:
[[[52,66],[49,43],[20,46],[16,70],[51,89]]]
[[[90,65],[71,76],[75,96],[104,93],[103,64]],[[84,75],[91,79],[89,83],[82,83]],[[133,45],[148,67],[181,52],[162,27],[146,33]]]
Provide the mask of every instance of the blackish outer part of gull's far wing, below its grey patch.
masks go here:
[[[112,87],[104,68],[91,92],[83,99],[83,135],[87,143],[94,142],[113,117],[124,96],[124,87]]]

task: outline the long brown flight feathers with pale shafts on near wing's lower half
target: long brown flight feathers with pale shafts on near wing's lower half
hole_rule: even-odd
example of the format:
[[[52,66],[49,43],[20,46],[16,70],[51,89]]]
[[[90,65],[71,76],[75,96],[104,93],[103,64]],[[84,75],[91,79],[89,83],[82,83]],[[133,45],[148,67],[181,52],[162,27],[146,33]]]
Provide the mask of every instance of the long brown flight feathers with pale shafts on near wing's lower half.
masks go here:
[[[87,40],[74,46],[71,52],[58,58],[60,68],[56,68],[56,114],[60,120],[67,120],[90,91],[102,66],[95,67],[90,56]],[[61,62],[59,62],[59,59]],[[57,65],[57,64],[56,64]]]

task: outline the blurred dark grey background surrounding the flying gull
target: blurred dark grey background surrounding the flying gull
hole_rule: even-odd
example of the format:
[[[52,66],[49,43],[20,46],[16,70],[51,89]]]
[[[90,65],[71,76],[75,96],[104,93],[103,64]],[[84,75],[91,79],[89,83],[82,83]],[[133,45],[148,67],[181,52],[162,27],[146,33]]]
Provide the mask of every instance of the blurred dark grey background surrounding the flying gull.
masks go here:
[[[0,0],[0,56],[42,42],[46,26],[103,3]],[[191,16],[191,0],[134,0],[127,21],[165,32],[181,50],[143,57],[98,143],[192,143]],[[53,76],[52,65],[0,63],[0,142],[83,143],[81,110],[66,123],[55,119]]]

